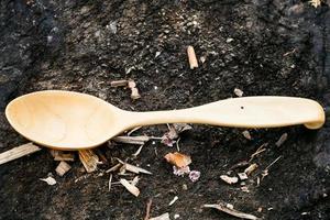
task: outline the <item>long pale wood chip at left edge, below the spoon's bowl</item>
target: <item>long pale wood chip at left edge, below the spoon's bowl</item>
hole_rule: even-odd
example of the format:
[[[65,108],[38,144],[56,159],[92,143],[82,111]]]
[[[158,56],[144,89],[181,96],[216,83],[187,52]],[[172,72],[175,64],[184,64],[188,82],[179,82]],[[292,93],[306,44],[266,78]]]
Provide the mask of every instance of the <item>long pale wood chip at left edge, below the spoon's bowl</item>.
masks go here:
[[[41,147],[34,145],[33,143],[28,143],[28,144],[13,147],[0,154],[0,165],[20,158],[22,156],[26,156],[29,154],[35,153],[40,150]]]

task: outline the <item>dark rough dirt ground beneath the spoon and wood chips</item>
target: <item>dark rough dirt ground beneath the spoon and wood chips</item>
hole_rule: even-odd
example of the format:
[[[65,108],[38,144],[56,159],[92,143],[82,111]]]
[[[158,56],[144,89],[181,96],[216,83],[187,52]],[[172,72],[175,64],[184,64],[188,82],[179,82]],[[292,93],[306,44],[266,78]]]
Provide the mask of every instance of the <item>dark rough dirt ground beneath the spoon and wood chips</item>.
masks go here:
[[[315,9],[300,0],[2,0],[0,152],[26,143],[7,122],[6,105],[43,89],[86,92],[141,111],[221,100],[234,97],[234,88],[244,96],[298,96],[329,106],[329,6],[326,1]],[[188,45],[205,59],[194,70]],[[123,78],[136,81],[141,99],[132,101],[128,89],[110,87]],[[57,162],[44,148],[0,166],[0,219],[143,219],[150,198],[152,217],[235,219],[202,208],[227,201],[263,219],[330,219],[329,125],[315,132],[302,127],[250,130],[252,140],[241,129],[193,128],[179,146],[201,173],[196,183],[173,174],[163,156],[176,148],[160,141],[147,142],[136,158],[131,155],[138,146],[107,143],[99,150],[108,166],[86,174],[76,160],[64,177],[56,176]],[[166,131],[157,125],[135,134]],[[277,147],[285,132],[288,140]],[[220,179],[264,143],[266,151],[254,160],[260,167],[245,182],[249,193]],[[257,186],[262,170],[278,156]],[[119,186],[108,191],[105,170],[114,165],[113,157],[153,173],[141,176],[138,198]],[[40,180],[50,173],[54,186]]]

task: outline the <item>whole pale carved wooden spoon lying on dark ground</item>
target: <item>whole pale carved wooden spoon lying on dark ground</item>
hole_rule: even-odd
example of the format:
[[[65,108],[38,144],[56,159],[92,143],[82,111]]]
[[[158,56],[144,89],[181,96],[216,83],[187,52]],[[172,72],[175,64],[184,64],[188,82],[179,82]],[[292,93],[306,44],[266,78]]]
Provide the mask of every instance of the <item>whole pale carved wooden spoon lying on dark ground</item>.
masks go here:
[[[58,150],[98,146],[125,130],[161,123],[204,123],[237,128],[276,128],[324,123],[322,107],[310,99],[246,97],[169,111],[131,112],[86,94],[36,91],[6,108],[10,124],[26,139]]]

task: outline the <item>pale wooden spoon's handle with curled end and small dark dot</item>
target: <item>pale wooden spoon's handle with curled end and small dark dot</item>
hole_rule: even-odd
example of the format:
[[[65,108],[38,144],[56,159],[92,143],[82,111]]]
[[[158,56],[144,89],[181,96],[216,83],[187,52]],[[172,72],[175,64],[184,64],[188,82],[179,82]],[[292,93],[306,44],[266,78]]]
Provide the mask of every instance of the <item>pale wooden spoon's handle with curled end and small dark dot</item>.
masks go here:
[[[254,129],[304,124],[319,129],[326,118],[317,101],[274,96],[232,98],[180,110],[127,113],[132,128],[185,122]]]

